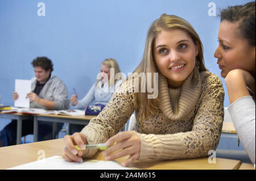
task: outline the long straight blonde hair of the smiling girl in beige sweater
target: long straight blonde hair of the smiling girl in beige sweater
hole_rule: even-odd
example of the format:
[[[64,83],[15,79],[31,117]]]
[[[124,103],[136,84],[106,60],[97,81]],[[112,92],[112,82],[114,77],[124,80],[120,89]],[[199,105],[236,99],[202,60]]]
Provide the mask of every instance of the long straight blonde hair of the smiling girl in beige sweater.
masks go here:
[[[183,18],[180,18],[179,16],[162,14],[159,19],[156,19],[151,24],[151,27],[147,32],[146,45],[144,48],[142,61],[137,66],[137,68],[134,70],[133,73],[138,73],[138,74],[151,73],[151,77],[154,77],[154,75],[152,75],[153,73],[159,73],[158,67],[155,64],[154,54],[153,54],[155,37],[158,36],[159,33],[163,30],[174,30],[174,29],[179,29],[187,32],[188,35],[193,40],[193,43],[195,45],[198,43],[199,53],[196,56],[196,60],[199,62],[199,65],[197,66],[199,67],[199,71],[207,70],[204,66],[203,45],[201,43],[199,35],[197,35],[196,31],[191,26],[191,24],[189,24],[186,20],[184,20]],[[142,110],[144,110],[143,113],[146,114],[148,111],[153,112],[156,108],[159,107],[159,100],[158,98],[148,99],[148,92],[141,91],[141,85],[143,85],[142,81],[143,80],[139,79],[140,91],[138,94],[138,100],[141,103]],[[151,85],[154,84],[153,81],[154,80],[151,79]]]

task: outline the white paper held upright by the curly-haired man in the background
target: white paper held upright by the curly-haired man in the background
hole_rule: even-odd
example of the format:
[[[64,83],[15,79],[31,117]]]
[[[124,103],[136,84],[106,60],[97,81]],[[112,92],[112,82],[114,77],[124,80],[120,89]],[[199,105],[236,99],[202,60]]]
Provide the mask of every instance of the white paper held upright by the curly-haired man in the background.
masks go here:
[[[14,101],[15,107],[30,107],[30,99],[26,98],[27,94],[31,92],[31,81],[23,79],[15,79],[15,92],[18,93],[19,98]]]

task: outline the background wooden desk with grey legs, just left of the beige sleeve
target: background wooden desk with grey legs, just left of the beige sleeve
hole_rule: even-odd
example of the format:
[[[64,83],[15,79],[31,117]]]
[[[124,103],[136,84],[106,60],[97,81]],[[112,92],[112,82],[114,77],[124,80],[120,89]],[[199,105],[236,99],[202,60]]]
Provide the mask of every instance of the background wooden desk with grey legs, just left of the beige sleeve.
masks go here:
[[[53,114],[39,114],[34,115],[34,142],[38,141],[38,121],[53,122],[53,138],[56,135],[56,123],[71,123],[87,125],[89,121],[96,116],[67,116],[67,115],[53,115]],[[70,131],[68,131],[70,134]]]

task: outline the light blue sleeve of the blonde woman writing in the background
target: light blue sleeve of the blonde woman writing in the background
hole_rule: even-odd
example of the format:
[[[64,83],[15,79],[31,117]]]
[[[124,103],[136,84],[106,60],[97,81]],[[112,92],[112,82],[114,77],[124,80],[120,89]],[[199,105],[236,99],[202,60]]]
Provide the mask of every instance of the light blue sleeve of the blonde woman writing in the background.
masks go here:
[[[82,98],[77,102],[76,106],[73,106],[73,104],[72,106],[80,110],[85,109],[85,107],[89,106],[89,104],[92,103],[93,100],[95,99],[95,96],[94,96],[95,91],[96,91],[96,83],[94,83],[93,86],[90,87],[90,90],[87,92],[84,98]]]

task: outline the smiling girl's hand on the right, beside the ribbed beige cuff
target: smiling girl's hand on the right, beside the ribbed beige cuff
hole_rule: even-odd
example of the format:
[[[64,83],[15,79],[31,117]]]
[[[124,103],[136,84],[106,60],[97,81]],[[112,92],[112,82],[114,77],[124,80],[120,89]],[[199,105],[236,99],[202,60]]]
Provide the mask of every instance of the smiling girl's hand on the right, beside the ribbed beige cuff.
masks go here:
[[[114,144],[115,142],[117,142],[117,144]],[[122,166],[129,166],[137,160],[141,154],[141,139],[138,134],[133,131],[119,132],[118,134],[115,134],[115,136],[109,138],[106,145],[112,145],[102,153],[106,156],[107,160],[130,155],[126,161],[121,163]]]

